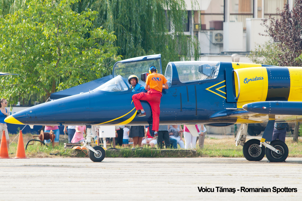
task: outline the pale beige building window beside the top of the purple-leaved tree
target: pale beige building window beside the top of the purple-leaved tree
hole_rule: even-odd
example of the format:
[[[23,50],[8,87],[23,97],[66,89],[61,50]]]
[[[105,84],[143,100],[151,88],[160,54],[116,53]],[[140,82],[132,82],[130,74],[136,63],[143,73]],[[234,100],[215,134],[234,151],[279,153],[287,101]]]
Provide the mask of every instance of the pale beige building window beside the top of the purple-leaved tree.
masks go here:
[[[278,17],[278,13],[284,10],[284,5],[287,3],[288,0],[264,0],[264,18],[268,18],[269,15]]]

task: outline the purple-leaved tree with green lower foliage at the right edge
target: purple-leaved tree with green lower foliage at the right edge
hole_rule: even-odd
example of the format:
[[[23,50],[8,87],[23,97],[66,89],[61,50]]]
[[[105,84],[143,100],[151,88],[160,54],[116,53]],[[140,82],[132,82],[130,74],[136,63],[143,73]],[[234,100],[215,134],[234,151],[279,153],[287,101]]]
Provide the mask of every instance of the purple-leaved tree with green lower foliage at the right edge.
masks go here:
[[[284,5],[279,18],[269,16],[264,19],[263,26],[267,28],[266,33],[273,43],[266,43],[252,51],[252,61],[268,65],[302,66],[302,0],[295,1],[292,11],[288,4]],[[264,60],[259,60],[259,57],[264,57]]]

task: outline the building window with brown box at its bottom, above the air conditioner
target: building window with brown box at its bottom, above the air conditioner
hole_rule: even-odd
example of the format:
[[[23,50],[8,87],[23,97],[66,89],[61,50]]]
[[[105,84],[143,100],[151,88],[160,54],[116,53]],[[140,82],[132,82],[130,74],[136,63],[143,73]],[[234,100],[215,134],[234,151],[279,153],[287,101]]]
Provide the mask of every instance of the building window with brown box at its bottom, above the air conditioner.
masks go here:
[[[201,30],[223,30],[224,0],[201,1]]]

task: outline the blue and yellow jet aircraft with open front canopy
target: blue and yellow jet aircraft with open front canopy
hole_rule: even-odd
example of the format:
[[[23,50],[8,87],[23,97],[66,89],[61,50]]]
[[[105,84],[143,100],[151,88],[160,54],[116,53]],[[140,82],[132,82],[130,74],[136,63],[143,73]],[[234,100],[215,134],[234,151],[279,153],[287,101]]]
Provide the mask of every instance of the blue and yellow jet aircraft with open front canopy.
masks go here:
[[[127,78],[137,75],[145,85],[146,72],[153,65],[162,73],[161,55],[116,62],[113,79],[87,93],[39,104],[5,119],[7,123],[28,125],[86,125],[84,143],[92,161],[102,161],[104,149],[91,147],[92,125],[148,125],[151,108],[142,101],[145,117],[137,117]],[[249,161],[281,162],[288,156],[287,145],[272,141],[275,122],[302,120],[300,67],[209,61],[169,62],[165,69],[169,89],[162,91],[160,124],[186,124],[198,135],[195,124],[229,126],[241,124],[236,145],[243,146]],[[149,109],[148,109],[149,108]],[[148,123],[147,123],[148,122]],[[246,142],[249,123],[268,122],[261,141]]]

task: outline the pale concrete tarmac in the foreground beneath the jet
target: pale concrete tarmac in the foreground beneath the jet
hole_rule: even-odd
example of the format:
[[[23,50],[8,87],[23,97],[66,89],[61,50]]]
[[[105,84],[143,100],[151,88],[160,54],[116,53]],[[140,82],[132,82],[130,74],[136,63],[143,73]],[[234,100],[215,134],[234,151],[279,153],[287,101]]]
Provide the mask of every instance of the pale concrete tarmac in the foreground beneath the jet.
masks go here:
[[[0,200],[301,200],[301,173],[302,158],[0,159]]]

